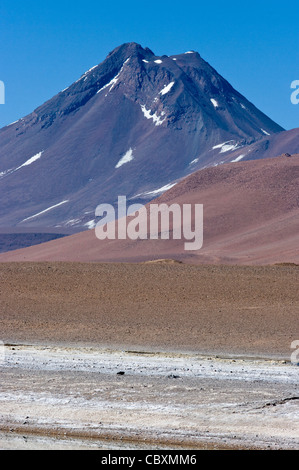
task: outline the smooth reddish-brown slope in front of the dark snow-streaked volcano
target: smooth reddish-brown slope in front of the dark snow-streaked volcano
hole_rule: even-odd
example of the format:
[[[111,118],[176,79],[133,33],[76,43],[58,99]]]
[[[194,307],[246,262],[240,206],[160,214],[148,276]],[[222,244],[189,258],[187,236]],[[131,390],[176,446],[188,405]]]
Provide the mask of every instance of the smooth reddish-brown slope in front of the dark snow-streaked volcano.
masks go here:
[[[204,243],[184,240],[105,240],[82,232],[0,256],[0,261],[147,261],[299,263],[299,155],[224,164],[200,170],[154,203],[204,207]]]

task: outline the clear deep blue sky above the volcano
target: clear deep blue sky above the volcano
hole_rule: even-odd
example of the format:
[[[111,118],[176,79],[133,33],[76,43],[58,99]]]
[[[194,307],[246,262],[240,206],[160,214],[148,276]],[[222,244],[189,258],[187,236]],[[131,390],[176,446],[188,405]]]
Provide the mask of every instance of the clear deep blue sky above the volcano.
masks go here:
[[[193,49],[286,129],[299,127],[298,4],[252,1],[1,0],[0,127],[69,86],[115,47],[157,55]]]

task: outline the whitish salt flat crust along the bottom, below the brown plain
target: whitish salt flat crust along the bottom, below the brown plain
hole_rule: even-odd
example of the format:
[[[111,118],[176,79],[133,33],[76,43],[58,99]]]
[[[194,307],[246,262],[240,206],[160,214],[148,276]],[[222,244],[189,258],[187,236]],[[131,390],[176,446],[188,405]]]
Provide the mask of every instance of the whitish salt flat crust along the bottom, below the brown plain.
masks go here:
[[[88,438],[90,448],[299,447],[298,367],[286,361],[10,345],[1,377],[10,436]]]

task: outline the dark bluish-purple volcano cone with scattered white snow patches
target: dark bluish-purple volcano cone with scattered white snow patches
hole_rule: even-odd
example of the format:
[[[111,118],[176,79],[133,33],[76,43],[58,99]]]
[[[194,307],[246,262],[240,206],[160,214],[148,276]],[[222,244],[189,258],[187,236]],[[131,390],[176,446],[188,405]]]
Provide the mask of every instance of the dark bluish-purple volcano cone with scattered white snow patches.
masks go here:
[[[98,204],[147,202],[281,131],[197,52],[123,44],[0,130],[0,226],[92,228]]]

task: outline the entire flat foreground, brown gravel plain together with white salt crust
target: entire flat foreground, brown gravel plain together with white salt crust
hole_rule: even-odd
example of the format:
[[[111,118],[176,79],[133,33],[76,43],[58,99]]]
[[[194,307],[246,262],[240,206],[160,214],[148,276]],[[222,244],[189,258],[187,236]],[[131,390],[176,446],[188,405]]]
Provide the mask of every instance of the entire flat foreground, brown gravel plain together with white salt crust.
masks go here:
[[[298,277],[2,264],[0,447],[298,449]]]

